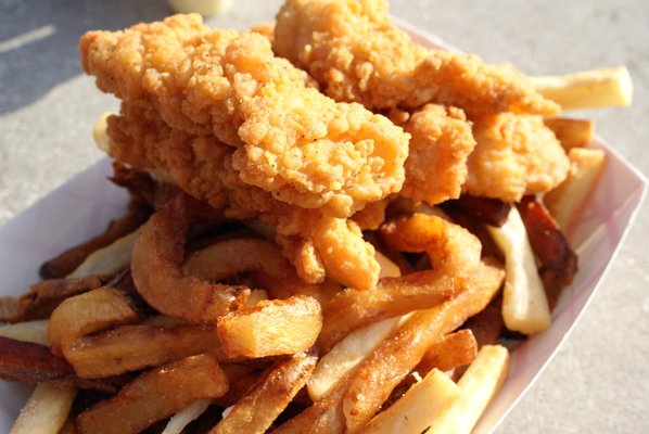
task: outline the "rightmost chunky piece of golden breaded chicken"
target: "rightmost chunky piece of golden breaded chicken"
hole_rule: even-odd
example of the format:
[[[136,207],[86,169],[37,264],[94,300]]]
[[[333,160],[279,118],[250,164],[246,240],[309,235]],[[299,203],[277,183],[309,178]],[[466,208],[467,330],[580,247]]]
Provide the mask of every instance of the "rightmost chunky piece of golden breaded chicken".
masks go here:
[[[559,186],[570,163],[540,116],[500,113],[475,120],[478,142],[469,155],[465,191],[475,196],[518,202],[525,194]]]

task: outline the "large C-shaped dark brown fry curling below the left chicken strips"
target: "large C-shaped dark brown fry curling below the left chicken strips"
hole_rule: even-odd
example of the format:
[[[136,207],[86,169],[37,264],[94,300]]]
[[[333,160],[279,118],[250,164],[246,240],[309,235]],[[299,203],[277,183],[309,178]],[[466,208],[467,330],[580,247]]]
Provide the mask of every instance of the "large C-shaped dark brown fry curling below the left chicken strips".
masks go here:
[[[140,295],[160,312],[208,322],[243,305],[250,290],[184,276],[181,264],[191,202],[177,195],[140,228],[131,271]]]

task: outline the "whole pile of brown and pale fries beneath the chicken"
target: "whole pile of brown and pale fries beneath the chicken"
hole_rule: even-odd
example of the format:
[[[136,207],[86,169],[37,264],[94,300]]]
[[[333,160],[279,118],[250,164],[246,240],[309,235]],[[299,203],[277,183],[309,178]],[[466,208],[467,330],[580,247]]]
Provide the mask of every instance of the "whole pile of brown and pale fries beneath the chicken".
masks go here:
[[[583,107],[583,80],[536,86]],[[559,188],[393,197],[365,233],[381,265],[365,291],[302,281],[272,228],[115,164],[126,214],[0,299],[0,376],[37,384],[12,433],[470,433],[507,378],[500,339],[550,327],[577,270],[564,229],[606,162],[590,122],[546,125],[572,164]]]

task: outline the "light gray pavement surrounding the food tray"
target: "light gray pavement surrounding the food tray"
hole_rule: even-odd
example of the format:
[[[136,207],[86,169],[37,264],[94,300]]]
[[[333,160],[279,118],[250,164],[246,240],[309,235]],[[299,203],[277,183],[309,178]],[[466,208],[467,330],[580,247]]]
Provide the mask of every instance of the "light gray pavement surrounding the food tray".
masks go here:
[[[209,23],[245,28],[270,21],[280,3],[236,0]],[[585,115],[649,173],[649,2],[393,0],[391,10],[533,75],[627,65],[633,107]],[[79,36],[169,13],[163,0],[0,0],[0,224],[102,156],[91,127],[117,104],[80,74]],[[25,34],[34,40],[21,43]],[[573,334],[498,433],[649,432],[648,206]]]

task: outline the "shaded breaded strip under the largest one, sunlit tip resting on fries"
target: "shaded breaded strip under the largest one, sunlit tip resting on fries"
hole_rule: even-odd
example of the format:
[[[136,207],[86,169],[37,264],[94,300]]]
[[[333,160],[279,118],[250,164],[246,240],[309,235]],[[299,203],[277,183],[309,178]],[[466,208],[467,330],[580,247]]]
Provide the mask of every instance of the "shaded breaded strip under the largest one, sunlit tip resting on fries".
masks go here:
[[[170,128],[152,107],[122,104],[107,119],[109,153],[141,170],[168,174],[192,196],[224,209],[232,219],[259,218],[277,228],[277,241],[310,283],[324,276],[358,289],[377,283],[374,248],[352,220],[327,216],[277,201],[272,194],[239,180],[236,150],[211,135]]]

